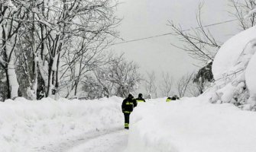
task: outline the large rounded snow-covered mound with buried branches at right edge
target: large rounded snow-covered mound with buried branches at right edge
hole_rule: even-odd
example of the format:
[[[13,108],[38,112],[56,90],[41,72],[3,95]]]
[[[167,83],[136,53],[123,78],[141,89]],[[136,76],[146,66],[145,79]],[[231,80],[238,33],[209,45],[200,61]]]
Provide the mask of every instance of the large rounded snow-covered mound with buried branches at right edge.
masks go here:
[[[255,46],[256,27],[238,33],[222,45],[212,64],[215,84],[207,91],[212,93],[212,103],[234,103],[243,109],[254,109]]]

